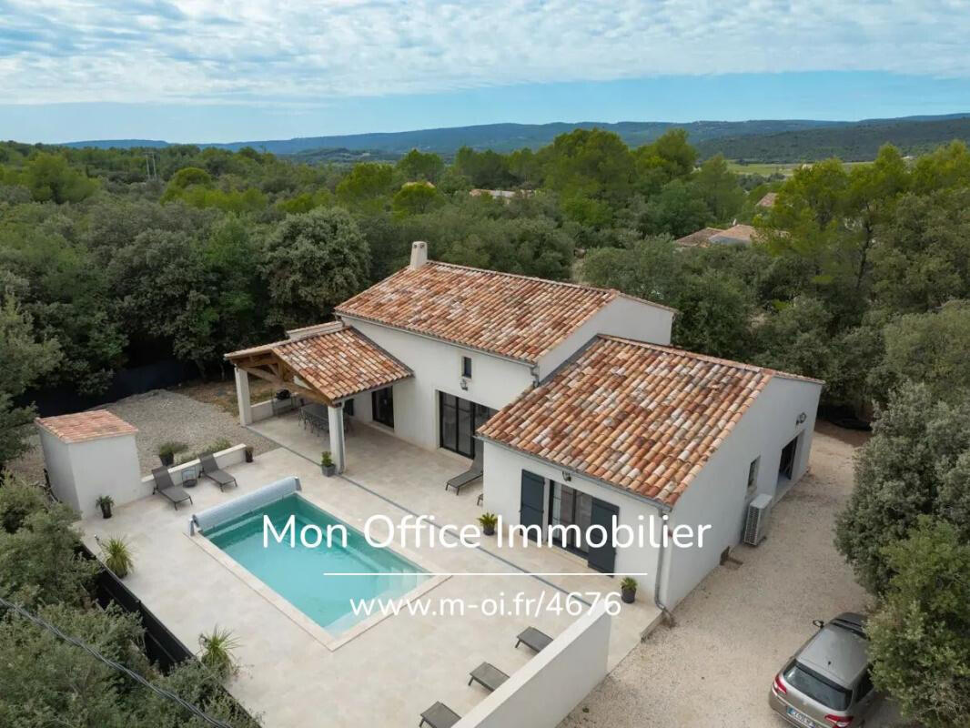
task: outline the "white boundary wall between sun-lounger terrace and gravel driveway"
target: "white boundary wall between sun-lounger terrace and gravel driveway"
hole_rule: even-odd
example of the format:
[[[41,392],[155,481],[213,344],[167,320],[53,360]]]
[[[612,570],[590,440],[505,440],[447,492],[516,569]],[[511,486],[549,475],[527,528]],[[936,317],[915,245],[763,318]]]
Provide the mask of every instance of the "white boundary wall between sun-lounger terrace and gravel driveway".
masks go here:
[[[455,728],[555,728],[606,677],[609,629],[599,602]]]

